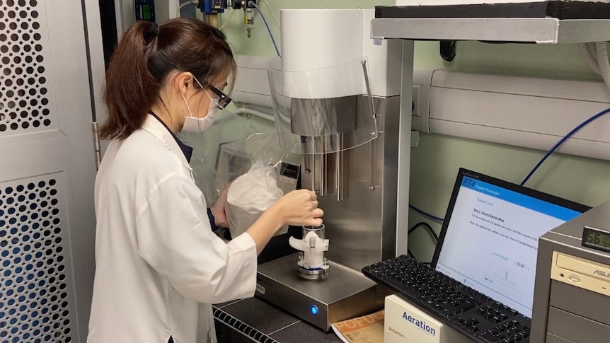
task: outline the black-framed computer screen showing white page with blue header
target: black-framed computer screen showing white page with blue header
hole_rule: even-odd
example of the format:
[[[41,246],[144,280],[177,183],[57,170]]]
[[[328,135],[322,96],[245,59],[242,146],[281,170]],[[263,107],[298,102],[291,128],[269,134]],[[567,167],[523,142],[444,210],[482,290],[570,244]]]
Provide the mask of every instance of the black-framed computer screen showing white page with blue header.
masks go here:
[[[588,209],[461,168],[432,267],[531,318],[538,238]]]

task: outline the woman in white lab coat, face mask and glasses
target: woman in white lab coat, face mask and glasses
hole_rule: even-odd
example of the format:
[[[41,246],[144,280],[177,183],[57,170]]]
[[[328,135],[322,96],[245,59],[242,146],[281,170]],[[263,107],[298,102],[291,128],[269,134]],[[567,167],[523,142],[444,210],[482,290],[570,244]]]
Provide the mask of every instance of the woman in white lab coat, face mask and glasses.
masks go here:
[[[319,226],[316,194],[290,192],[224,243],[175,133],[202,131],[229,103],[236,64],[223,33],[201,21],[135,23],[108,69],[96,178],[91,343],[215,342],[212,303],[253,296],[256,257],[286,224]]]

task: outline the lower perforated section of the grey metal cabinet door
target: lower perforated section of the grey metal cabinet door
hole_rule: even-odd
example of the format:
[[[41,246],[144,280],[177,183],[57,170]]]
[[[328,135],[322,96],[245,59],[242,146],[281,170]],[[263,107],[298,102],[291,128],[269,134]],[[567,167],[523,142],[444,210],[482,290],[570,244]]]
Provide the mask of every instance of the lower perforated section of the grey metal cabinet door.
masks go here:
[[[62,183],[0,183],[0,342],[76,342]]]

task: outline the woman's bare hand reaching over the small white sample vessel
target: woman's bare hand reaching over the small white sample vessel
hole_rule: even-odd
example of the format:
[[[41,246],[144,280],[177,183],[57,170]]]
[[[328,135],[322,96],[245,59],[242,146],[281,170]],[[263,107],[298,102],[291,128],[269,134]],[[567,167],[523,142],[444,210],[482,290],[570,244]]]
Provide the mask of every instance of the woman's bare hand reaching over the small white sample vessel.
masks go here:
[[[280,216],[283,225],[321,226],[322,209],[318,209],[318,197],[311,190],[293,190],[277,200],[269,208]]]

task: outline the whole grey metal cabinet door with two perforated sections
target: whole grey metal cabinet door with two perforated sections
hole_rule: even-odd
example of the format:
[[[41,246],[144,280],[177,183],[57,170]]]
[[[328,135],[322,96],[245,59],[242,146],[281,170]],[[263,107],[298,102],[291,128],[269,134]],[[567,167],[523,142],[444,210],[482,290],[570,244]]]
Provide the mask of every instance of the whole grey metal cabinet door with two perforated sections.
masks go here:
[[[85,42],[81,1],[0,0],[0,343],[86,342],[96,169]]]

